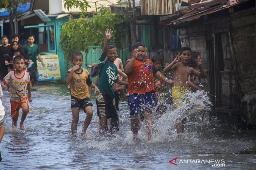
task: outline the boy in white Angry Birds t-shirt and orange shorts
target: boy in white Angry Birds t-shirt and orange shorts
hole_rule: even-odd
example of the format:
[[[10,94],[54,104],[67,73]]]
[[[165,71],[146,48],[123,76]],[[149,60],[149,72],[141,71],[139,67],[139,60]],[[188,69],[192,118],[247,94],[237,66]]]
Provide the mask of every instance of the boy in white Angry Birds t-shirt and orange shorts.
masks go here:
[[[5,84],[9,84],[9,86],[11,87],[10,98],[13,126],[17,126],[19,111],[21,108],[22,115],[20,121],[20,129],[25,130],[23,123],[29,112],[28,101],[32,102],[33,100],[31,96],[30,77],[27,72],[23,71],[23,68],[25,67],[25,58],[23,56],[15,56],[13,62],[13,67],[15,68],[15,71],[9,72],[1,83],[3,89],[7,89],[7,86]],[[28,100],[26,90],[28,90]]]

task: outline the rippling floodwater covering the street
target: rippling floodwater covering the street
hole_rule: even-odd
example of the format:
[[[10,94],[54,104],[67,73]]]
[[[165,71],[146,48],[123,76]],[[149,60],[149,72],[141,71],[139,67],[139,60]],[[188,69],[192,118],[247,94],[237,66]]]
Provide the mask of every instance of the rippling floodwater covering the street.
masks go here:
[[[186,132],[177,137],[172,112],[155,120],[153,141],[147,141],[142,126],[140,140],[132,141],[127,100],[119,104],[120,131],[115,137],[98,136],[99,118],[95,98],[93,119],[87,134],[81,131],[86,114],[80,111],[78,137],[72,138],[70,95],[66,85],[36,87],[25,120],[25,131],[11,127],[10,102],[4,91],[6,132],[0,145],[1,170],[11,169],[255,169],[256,131],[240,131],[213,121],[191,119]],[[21,119],[21,113],[18,124]],[[170,160],[177,158],[176,163]],[[183,161],[182,161],[183,160]],[[184,160],[201,160],[184,163]],[[225,167],[213,167],[202,160],[224,160]],[[185,161],[186,162],[186,161]],[[216,165],[217,166],[217,165]]]

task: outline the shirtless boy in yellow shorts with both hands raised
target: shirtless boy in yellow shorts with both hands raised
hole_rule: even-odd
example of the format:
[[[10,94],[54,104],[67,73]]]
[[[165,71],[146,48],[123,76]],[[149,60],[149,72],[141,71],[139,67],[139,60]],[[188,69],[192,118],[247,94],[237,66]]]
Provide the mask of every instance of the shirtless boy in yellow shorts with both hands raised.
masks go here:
[[[196,71],[194,68],[188,66],[188,62],[191,58],[191,49],[189,47],[182,47],[180,55],[177,55],[176,58],[169,64],[166,68],[163,69],[164,72],[170,72],[173,70],[173,81],[175,86],[172,88],[172,97],[175,104],[175,108],[181,105],[183,100],[186,100],[190,91],[188,76],[190,73],[197,77],[205,78],[206,75],[202,68],[202,62],[198,64],[200,72]],[[181,60],[181,61],[180,61]],[[179,62],[180,61],[180,62]],[[177,133],[184,132],[184,123],[186,118],[182,119],[181,122],[176,124]]]

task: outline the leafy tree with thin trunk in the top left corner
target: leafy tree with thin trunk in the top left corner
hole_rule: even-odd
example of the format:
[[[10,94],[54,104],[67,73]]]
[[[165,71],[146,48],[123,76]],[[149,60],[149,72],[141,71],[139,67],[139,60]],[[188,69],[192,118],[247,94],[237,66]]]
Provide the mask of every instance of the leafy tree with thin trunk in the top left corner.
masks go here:
[[[14,34],[14,20],[17,21],[17,15],[20,14],[20,12],[17,10],[17,7],[21,4],[30,2],[30,0],[0,0],[0,2],[4,5],[4,8],[10,13],[8,19],[11,24],[12,34]]]

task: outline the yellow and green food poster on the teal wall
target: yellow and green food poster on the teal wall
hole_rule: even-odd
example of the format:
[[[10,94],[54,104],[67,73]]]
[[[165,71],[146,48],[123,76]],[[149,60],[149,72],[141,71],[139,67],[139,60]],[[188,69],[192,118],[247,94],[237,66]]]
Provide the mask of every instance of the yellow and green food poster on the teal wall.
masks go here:
[[[36,61],[38,66],[38,81],[61,80],[59,55],[41,55],[45,67],[40,61]]]

